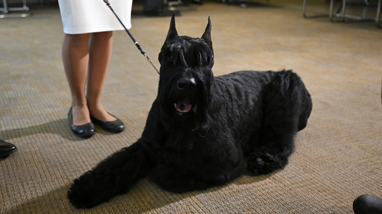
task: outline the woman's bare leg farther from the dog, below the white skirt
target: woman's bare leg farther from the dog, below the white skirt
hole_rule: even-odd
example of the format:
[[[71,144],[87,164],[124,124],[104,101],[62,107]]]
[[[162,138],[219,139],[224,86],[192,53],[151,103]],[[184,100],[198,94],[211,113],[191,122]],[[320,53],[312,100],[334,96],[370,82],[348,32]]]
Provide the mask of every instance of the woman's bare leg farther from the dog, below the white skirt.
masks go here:
[[[72,121],[75,126],[91,122],[85,96],[90,35],[65,34],[62,44],[62,62],[72,94]]]

